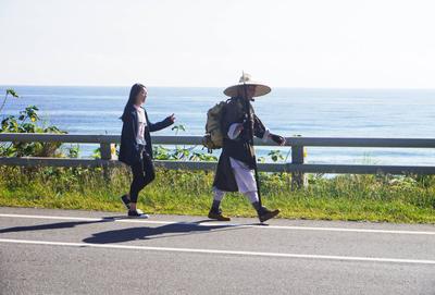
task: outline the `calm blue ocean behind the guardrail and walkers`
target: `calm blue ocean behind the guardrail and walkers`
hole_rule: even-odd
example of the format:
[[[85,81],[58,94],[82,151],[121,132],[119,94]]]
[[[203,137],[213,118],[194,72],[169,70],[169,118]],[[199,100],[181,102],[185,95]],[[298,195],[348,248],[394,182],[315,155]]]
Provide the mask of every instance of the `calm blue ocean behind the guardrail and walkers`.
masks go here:
[[[44,121],[70,134],[120,134],[129,87],[0,86],[13,88],[0,119],[35,105]],[[175,113],[179,135],[203,135],[207,110],[226,99],[223,88],[149,87],[146,109],[156,122]],[[258,116],[274,133],[319,137],[435,137],[435,89],[275,88],[257,98]],[[154,135],[174,135],[166,128]],[[67,145],[67,144],[66,144]],[[98,146],[80,145],[80,157]],[[258,148],[259,156],[289,148]],[[217,152],[219,155],[219,152]],[[290,157],[289,157],[290,158]],[[288,158],[288,161],[289,161]],[[308,147],[310,163],[376,163],[434,165],[433,149]]]

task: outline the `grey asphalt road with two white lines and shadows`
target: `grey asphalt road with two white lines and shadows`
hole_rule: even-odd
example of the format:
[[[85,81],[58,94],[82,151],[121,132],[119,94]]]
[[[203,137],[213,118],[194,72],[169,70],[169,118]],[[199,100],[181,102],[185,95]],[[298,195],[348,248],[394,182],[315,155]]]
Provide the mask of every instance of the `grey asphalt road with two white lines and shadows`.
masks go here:
[[[0,208],[3,294],[435,294],[435,226]]]

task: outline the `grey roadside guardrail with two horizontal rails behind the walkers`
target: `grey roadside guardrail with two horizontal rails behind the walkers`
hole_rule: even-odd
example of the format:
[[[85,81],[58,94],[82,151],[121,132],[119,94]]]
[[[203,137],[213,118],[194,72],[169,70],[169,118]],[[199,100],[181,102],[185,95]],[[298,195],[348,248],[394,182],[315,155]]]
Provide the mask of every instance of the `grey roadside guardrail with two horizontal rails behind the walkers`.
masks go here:
[[[158,145],[202,145],[201,136],[153,136]],[[303,162],[303,147],[376,147],[376,148],[435,148],[435,138],[337,138],[337,137],[287,137],[291,147],[290,163],[259,163],[259,171],[291,172],[296,185],[303,185],[303,173],[350,173],[350,174],[435,174],[432,165],[368,165],[368,164],[310,164]],[[99,144],[101,159],[67,158],[1,158],[3,165],[49,165],[49,167],[116,167],[122,163],[112,158],[111,144],[121,142],[120,135],[75,135],[75,134],[15,134],[1,133],[0,142],[21,143],[75,143]],[[276,146],[271,140],[254,140],[258,146]],[[157,167],[167,169],[214,170],[215,162],[163,161],[156,160]]]

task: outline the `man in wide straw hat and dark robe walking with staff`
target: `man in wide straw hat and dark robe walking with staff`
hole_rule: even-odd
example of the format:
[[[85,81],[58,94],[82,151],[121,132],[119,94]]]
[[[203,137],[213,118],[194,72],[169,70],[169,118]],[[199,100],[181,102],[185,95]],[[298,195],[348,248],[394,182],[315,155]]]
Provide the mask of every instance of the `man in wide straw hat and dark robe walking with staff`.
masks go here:
[[[285,144],[285,138],[270,133],[260,119],[253,113],[250,101],[253,97],[264,96],[271,87],[251,81],[244,73],[238,84],[227,87],[224,94],[231,99],[222,110],[221,130],[224,136],[223,149],[217,163],[213,183],[213,204],[209,212],[210,219],[229,221],[222,214],[221,200],[225,192],[239,192],[247,196],[257,210],[261,222],[276,217],[279,210],[269,210],[261,205],[256,182],[256,157],[252,135]],[[249,107],[249,109],[248,109]],[[251,114],[251,115],[249,115]],[[250,125],[249,125],[250,124]]]

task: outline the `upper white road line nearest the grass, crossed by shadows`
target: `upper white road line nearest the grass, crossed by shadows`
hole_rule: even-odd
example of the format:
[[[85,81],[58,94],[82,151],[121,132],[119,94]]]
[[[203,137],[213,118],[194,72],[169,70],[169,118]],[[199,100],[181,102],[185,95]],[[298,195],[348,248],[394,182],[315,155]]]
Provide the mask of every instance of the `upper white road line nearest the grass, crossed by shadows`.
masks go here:
[[[49,219],[49,220],[72,220],[72,221],[96,221],[96,222],[126,222],[126,223],[144,223],[144,224],[187,224],[198,226],[234,226],[247,229],[265,229],[265,230],[294,230],[294,231],[324,231],[324,232],[350,232],[350,233],[374,233],[374,234],[403,234],[403,235],[435,235],[435,231],[394,231],[394,230],[373,230],[373,229],[349,229],[349,228],[323,228],[323,226],[289,226],[289,225],[254,225],[254,224],[234,224],[225,222],[175,222],[162,220],[141,220],[141,219],[124,219],[124,218],[80,218],[80,217],[57,217],[57,216],[28,216],[28,214],[0,214],[0,218],[27,218],[27,219]]]

